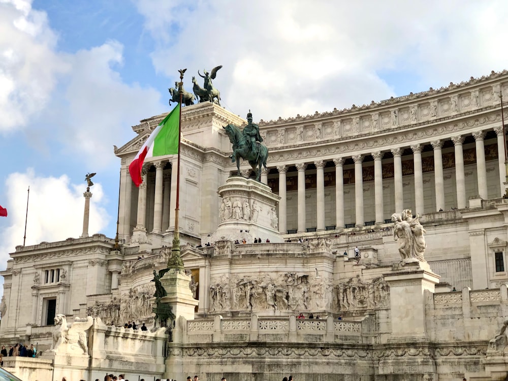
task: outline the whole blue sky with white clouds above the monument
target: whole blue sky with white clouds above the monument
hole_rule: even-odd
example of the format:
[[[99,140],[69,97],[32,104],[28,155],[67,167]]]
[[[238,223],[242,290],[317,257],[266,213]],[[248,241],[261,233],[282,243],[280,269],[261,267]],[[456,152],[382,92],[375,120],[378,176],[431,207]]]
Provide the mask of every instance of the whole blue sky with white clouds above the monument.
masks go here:
[[[222,104],[256,120],[361,105],[508,69],[508,3],[447,0],[0,0],[0,269],[23,242],[114,237],[113,145],[169,111],[187,68],[224,67]]]

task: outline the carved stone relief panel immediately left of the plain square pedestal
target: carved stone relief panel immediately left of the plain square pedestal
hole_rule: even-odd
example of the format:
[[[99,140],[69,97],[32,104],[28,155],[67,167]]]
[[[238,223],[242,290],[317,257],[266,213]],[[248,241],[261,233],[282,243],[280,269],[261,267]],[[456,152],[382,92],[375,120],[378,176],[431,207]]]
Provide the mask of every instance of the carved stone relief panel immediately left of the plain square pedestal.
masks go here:
[[[334,306],[339,311],[360,311],[387,308],[390,286],[382,277],[363,283],[359,276],[335,286]]]

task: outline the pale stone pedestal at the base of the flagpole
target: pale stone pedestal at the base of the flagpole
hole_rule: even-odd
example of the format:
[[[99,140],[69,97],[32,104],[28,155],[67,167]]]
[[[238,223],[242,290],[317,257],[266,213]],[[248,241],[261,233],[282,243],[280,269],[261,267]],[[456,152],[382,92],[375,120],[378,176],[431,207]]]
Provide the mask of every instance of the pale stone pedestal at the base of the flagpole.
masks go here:
[[[168,294],[161,298],[161,302],[171,306],[176,316],[175,321],[180,316],[186,320],[194,320],[194,309],[199,301],[193,298],[189,289],[190,276],[171,269],[161,278],[161,283]]]

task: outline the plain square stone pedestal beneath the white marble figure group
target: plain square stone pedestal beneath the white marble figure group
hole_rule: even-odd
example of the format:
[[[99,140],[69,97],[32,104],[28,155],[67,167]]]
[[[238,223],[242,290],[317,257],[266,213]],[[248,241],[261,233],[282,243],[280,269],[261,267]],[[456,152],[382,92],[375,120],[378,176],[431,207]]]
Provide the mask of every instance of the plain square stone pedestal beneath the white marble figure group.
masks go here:
[[[391,339],[426,341],[425,293],[434,293],[440,276],[430,270],[427,262],[410,262],[394,266],[384,277],[390,285]]]

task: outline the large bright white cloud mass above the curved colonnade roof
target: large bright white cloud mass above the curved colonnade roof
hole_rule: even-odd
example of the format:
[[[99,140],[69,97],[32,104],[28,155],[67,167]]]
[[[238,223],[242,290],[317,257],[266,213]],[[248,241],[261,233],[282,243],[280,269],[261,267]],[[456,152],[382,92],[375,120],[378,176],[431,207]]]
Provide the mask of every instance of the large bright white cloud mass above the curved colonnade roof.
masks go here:
[[[403,95],[381,71],[409,73],[410,91],[421,91],[501,70],[508,58],[500,0],[135,3],[157,42],[158,71],[224,65],[214,81],[223,105],[258,118]]]

